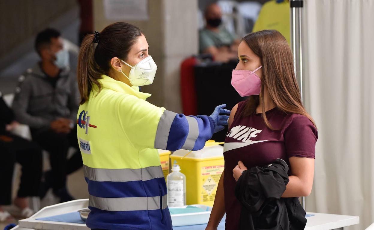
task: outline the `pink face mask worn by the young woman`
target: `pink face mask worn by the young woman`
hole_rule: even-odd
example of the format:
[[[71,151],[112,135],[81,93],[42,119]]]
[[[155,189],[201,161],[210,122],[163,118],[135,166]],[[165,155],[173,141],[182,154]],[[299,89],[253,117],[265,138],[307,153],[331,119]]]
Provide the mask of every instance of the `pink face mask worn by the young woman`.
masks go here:
[[[253,71],[233,70],[231,84],[240,96],[259,95],[261,91],[261,79],[255,73],[262,66]]]

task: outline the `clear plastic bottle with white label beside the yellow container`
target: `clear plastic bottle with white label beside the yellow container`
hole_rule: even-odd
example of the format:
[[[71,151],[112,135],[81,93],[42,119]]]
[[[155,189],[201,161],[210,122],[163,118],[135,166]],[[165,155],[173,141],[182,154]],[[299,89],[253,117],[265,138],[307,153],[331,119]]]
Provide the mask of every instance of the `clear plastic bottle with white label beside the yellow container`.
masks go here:
[[[168,206],[180,207],[186,205],[186,176],[180,172],[181,168],[174,161],[172,173],[166,177],[168,183]]]

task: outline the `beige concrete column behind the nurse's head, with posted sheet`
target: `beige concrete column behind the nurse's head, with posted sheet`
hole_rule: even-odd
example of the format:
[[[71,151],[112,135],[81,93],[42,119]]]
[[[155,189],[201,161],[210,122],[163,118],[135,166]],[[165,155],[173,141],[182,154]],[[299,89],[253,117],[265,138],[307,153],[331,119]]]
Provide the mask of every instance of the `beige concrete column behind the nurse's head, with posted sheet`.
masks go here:
[[[115,21],[105,18],[103,1],[93,4],[94,29],[101,31]],[[154,83],[143,86],[150,103],[181,113],[180,64],[198,52],[197,0],[149,0],[147,21],[125,21],[138,26],[157,64]]]

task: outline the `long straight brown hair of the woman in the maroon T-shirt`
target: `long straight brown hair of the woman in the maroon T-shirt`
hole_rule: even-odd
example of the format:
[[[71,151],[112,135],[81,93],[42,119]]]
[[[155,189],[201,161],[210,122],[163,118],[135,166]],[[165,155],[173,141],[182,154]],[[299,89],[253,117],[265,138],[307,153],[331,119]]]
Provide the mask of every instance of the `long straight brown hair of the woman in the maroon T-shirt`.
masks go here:
[[[263,72],[260,95],[248,98],[241,116],[254,113],[260,99],[261,109],[265,111],[263,98],[266,88],[270,100],[279,110],[304,115],[316,126],[301,102],[300,89],[294,72],[294,59],[283,35],[276,30],[263,30],[246,35],[243,41],[260,57]],[[274,130],[267,120],[266,113],[263,112],[262,117],[266,126]]]

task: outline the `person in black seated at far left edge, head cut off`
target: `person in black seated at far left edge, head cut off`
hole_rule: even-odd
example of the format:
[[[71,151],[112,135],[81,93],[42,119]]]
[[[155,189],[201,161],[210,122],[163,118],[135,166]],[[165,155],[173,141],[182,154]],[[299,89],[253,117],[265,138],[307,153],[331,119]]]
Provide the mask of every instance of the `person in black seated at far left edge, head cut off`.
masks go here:
[[[42,178],[42,150],[37,144],[10,133],[19,123],[13,111],[5,104],[0,92],[0,223],[13,220],[3,205],[12,203],[14,165],[22,166],[21,182],[13,204],[19,208],[20,217],[34,214],[29,208],[27,197],[39,196]]]

